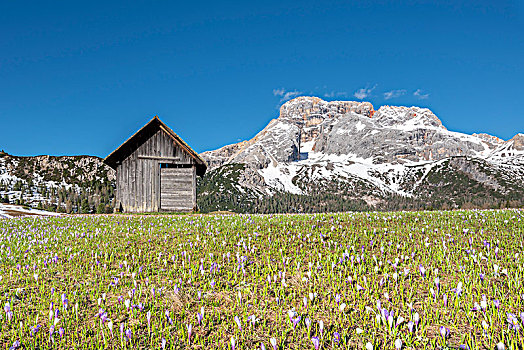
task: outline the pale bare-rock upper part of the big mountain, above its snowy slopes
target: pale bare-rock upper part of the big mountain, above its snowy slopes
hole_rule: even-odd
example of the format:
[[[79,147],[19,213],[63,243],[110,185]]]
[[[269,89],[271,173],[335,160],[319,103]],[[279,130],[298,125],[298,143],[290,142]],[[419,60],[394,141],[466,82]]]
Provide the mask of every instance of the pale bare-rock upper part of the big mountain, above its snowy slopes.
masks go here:
[[[523,139],[516,136],[511,147],[523,147]],[[249,141],[202,156],[211,168],[243,163],[265,169],[331,155],[373,164],[414,164],[488,152],[507,156],[500,147],[510,147],[509,141],[448,131],[427,108],[386,105],[375,111],[369,102],[303,96],[284,103],[278,118]]]

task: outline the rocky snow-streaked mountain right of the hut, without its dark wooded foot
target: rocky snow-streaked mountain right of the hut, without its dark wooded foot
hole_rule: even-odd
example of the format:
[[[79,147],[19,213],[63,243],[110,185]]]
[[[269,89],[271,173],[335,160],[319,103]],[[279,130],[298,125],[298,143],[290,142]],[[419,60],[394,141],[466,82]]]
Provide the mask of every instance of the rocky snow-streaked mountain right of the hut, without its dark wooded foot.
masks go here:
[[[286,102],[279,117],[251,140],[202,156],[212,172],[243,165],[235,172],[235,196],[330,191],[347,200],[364,199],[372,207],[392,197],[434,197],[446,186],[447,191],[468,192],[451,195],[450,207],[464,204],[475,186],[491,203],[500,202],[520,193],[524,179],[522,134],[508,141],[467,135],[446,129],[427,108],[382,106],[375,111],[369,102],[317,97]],[[472,188],[454,186],[450,179],[439,183],[435,174],[465,176],[457,181],[471,182]]]

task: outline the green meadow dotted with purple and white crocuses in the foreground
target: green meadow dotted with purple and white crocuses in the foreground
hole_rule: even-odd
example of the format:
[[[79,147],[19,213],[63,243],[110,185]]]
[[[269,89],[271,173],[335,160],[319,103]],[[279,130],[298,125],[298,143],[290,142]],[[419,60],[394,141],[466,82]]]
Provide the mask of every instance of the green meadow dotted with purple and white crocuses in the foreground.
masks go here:
[[[162,339],[169,349],[230,349],[231,338],[236,349],[272,349],[271,338],[279,349],[314,349],[312,337],[321,349],[393,349],[397,339],[403,349],[522,349],[524,341],[517,210],[29,217],[0,220],[0,240],[5,349],[15,341],[158,349]],[[394,312],[391,326],[384,310]]]

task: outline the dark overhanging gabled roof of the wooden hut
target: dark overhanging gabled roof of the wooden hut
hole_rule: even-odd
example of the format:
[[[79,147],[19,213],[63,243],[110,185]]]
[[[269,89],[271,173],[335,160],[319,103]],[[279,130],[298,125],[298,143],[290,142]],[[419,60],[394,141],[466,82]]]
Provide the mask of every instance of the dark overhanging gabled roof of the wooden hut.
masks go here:
[[[166,124],[164,124],[158,116],[154,116],[146,125],[140,130],[135,132],[130,138],[128,138],[123,144],[118,146],[110,155],[104,159],[104,163],[109,165],[111,168],[116,169],[118,163],[128,157],[136,149],[136,145],[140,145],[147,141],[153,133],[158,130],[163,130],[173,141],[180,146],[191,158],[195,160],[197,175],[202,176],[206,172],[206,162],[189,147],[173,130],[171,130]]]

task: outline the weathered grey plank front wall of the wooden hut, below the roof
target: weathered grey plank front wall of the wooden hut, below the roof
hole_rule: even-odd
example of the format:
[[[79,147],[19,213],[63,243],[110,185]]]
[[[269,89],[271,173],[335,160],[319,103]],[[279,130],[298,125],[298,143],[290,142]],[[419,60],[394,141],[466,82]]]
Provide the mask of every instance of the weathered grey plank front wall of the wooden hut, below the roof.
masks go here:
[[[160,163],[191,167],[160,169]],[[167,208],[163,208],[161,205],[161,170],[187,170],[192,172],[189,175],[182,172],[182,179],[178,179],[174,175],[168,176],[164,179],[164,184],[166,191],[167,188],[175,188],[182,184],[187,186],[187,189],[182,189],[180,192],[184,198],[187,197],[186,192],[193,192],[191,201],[184,199],[184,205],[180,200],[174,200],[177,205],[181,205],[177,210],[193,210],[196,207],[195,161],[161,129],[149,135],[149,138],[141,145],[137,145],[137,148],[118,165],[116,201],[121,204],[124,212],[174,210],[171,209],[171,205],[175,202],[166,202]],[[190,177],[192,177],[191,181],[188,180]],[[169,181],[174,181],[174,184],[169,185]],[[166,192],[166,195],[173,196],[173,193]]]

